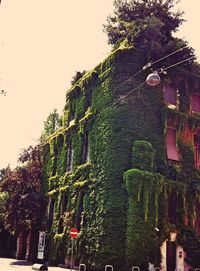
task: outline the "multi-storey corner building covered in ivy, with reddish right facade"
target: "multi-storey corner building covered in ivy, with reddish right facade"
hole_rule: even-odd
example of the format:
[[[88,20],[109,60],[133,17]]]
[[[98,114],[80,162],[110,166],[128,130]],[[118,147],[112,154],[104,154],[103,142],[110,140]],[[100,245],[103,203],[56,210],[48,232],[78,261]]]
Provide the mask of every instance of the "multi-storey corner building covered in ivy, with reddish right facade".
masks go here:
[[[75,265],[200,267],[199,66],[151,87],[147,62],[120,47],[67,91],[63,127],[44,144],[50,263],[69,264],[75,227]]]

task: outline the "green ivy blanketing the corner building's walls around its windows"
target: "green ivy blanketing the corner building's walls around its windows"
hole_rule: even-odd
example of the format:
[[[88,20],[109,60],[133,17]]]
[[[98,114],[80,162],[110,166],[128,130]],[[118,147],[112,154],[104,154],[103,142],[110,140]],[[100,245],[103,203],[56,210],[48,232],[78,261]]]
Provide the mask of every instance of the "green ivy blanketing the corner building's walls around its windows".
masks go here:
[[[79,195],[84,194],[76,256],[93,270],[101,270],[106,264],[121,270],[132,265],[146,268],[149,261],[159,265],[159,247],[172,227],[179,229],[187,214],[190,221],[195,217],[192,206],[200,194],[200,173],[194,168],[192,142],[185,142],[181,133],[186,126],[191,132],[200,127],[198,114],[188,116],[190,89],[197,91],[200,84],[188,79],[187,73],[184,80],[178,80],[176,73],[167,75],[180,86],[179,111],[165,105],[162,83],[155,88],[143,84],[134,94],[121,99],[146,80],[148,71],[127,81],[147,62],[142,50],[118,48],[66,93],[64,126],[44,144],[44,189],[48,195],[56,195],[49,251],[52,262],[62,261],[70,246],[69,240],[63,242],[56,235],[62,193],[68,195],[67,211],[73,214],[73,226]],[[74,122],[69,125],[71,116]],[[168,121],[179,135],[178,164],[168,161],[166,156]],[[85,132],[89,137],[90,161],[84,164]],[[70,142],[74,151],[73,171],[66,172]],[[179,218],[170,225],[168,199],[173,193]],[[159,234],[155,232],[157,226]],[[66,235],[68,230],[69,226],[64,227]],[[188,239],[187,242],[189,245]],[[190,255],[193,266],[197,255]]]

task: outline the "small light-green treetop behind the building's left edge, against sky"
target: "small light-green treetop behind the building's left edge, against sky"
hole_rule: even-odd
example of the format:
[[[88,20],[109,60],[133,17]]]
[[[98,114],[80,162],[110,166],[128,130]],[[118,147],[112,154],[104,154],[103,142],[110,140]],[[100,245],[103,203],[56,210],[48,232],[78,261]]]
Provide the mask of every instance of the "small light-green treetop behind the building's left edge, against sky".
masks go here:
[[[53,112],[51,112],[46,121],[44,121],[44,128],[42,132],[42,138],[46,138],[53,134],[58,128],[62,126],[60,115],[57,111],[57,109],[54,109]]]

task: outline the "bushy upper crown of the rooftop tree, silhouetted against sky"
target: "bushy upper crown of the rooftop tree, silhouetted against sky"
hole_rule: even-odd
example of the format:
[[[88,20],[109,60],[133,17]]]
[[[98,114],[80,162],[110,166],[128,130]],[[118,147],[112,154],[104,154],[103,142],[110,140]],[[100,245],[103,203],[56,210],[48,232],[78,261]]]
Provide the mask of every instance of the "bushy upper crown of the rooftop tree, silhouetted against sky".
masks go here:
[[[147,43],[164,45],[183,23],[183,12],[172,12],[175,0],[115,0],[114,15],[108,16],[104,31],[108,43],[126,40],[135,47]]]

